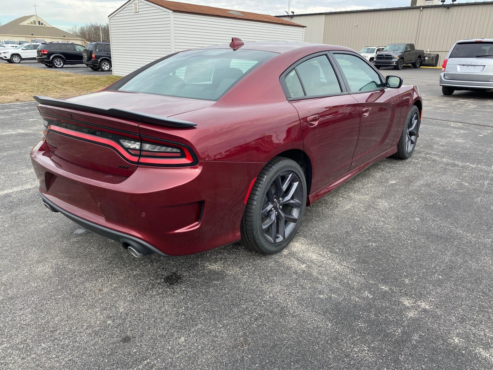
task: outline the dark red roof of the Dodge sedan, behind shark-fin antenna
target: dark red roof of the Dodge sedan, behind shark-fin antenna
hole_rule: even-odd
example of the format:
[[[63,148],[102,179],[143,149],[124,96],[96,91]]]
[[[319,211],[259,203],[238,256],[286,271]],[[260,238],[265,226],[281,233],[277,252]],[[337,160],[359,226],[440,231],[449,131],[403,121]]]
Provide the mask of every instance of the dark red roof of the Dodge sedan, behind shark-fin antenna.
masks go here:
[[[229,49],[229,44],[207,46],[203,49]],[[348,47],[338,45],[317,44],[312,42],[295,42],[295,41],[260,41],[260,42],[245,42],[241,46],[242,49],[271,51],[274,53],[287,53],[293,50],[301,51],[306,49],[307,52],[317,52],[322,50],[341,50],[354,51]]]

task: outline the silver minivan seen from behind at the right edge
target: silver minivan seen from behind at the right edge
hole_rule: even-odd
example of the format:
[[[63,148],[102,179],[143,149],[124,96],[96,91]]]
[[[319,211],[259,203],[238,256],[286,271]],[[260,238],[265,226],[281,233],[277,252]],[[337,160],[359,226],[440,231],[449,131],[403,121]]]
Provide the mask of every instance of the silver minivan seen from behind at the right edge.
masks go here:
[[[457,41],[443,62],[440,86],[444,95],[456,90],[493,91],[493,38]]]

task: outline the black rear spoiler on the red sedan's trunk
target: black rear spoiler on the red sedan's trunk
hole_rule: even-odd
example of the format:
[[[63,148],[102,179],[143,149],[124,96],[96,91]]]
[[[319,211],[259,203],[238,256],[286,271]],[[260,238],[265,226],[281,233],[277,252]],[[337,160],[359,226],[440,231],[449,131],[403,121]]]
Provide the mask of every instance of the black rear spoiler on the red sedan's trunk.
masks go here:
[[[109,108],[109,109],[99,108],[86,104],[70,102],[68,100],[48,98],[46,96],[33,96],[33,98],[39,104],[43,104],[47,106],[76,109],[78,111],[104,114],[111,117],[130,119],[132,121],[138,121],[138,122],[153,123],[161,126],[170,126],[170,127],[197,126],[197,123],[182,121],[181,119],[176,119],[171,117],[162,117],[154,114],[126,111],[124,109],[116,109],[116,108]]]

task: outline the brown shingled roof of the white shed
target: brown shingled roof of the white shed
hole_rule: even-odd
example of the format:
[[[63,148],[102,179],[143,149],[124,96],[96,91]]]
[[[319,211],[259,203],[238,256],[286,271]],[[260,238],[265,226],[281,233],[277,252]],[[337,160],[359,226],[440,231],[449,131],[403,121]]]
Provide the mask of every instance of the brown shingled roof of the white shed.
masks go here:
[[[167,1],[167,0],[147,0],[147,1],[162,6],[163,8],[173,11],[183,12],[183,13],[205,14],[205,15],[213,15],[216,17],[247,19],[249,21],[259,21],[259,22],[285,24],[289,26],[306,27],[298,23],[286,21],[285,19],[277,18],[267,14],[250,13],[247,11],[236,10],[236,9],[214,8],[212,6],[187,4],[186,2],[177,2],[177,1]],[[230,13],[231,11],[241,13],[243,15]]]

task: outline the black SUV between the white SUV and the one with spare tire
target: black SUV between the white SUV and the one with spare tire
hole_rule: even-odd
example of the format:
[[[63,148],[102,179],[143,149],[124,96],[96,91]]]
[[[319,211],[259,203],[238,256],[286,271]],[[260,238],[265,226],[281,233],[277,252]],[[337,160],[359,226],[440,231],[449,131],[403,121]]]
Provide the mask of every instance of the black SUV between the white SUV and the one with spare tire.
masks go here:
[[[73,42],[43,42],[36,50],[36,62],[43,63],[49,68],[62,68],[66,64],[83,64],[84,46]]]

